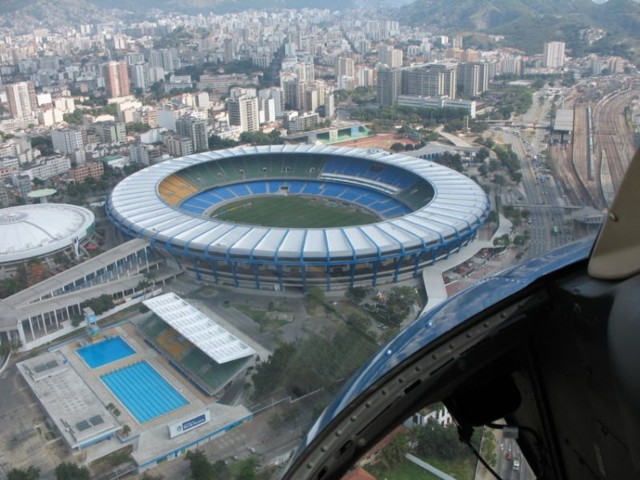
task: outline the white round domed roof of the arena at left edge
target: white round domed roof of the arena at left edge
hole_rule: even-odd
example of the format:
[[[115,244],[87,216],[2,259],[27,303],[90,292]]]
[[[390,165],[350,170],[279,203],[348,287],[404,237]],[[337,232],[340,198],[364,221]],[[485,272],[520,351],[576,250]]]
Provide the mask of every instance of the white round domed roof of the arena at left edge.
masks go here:
[[[90,210],[58,203],[0,210],[0,263],[48,255],[87,236],[95,217]]]

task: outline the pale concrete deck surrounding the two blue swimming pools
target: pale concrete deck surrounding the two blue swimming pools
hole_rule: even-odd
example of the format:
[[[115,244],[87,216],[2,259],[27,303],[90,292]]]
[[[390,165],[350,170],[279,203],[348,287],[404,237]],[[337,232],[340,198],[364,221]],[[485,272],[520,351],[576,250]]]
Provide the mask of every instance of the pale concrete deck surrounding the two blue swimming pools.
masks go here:
[[[208,435],[213,434],[212,437],[215,437],[218,434],[222,434],[230,424],[250,417],[251,413],[243,406],[216,404],[215,399],[201,393],[176,372],[164,357],[145,344],[144,339],[138,334],[134,325],[125,323],[102,331],[101,334],[122,337],[135,350],[135,353],[100,367],[90,368],[76,352],[81,347],[80,343],[72,342],[19,365],[27,383],[40,399],[40,403],[51,418],[59,419],[67,415],[67,422],[75,425],[80,420],[100,414],[105,420],[105,425],[94,427],[94,429],[100,429],[100,432],[97,433],[102,436],[104,436],[104,432],[113,433],[123,425],[128,425],[131,429],[129,436],[123,440],[113,436],[108,440],[91,446],[91,448],[84,449],[82,451],[84,463],[88,464],[104,455],[119,450],[125,445],[133,444],[133,457],[139,465],[144,465],[159,456],[165,455],[167,452],[184,448]],[[49,376],[51,379],[47,382],[34,380],[33,372],[35,367],[54,359],[58,360],[59,366],[52,368],[46,374],[40,375],[42,377]],[[189,403],[151,419],[144,424],[140,424],[103,383],[100,376],[141,361],[146,361],[153,366],[164,380],[185,397]],[[64,381],[63,384],[60,383],[61,381]],[[64,395],[56,397],[56,392],[63,392]],[[106,409],[106,405],[109,403],[113,403],[120,410],[121,413],[118,417],[113,416]],[[178,437],[169,438],[169,424],[190,419],[207,410],[211,417],[208,423]],[[69,416],[71,414],[75,416]],[[74,442],[74,438],[68,432],[64,431],[64,426],[59,427],[59,429],[69,445],[77,443]],[[87,431],[87,433],[92,432]]]

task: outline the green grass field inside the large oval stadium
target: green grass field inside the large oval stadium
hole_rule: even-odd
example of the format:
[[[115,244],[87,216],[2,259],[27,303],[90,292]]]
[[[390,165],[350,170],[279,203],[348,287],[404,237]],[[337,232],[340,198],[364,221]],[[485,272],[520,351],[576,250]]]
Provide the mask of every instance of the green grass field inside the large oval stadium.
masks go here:
[[[223,206],[211,215],[227,222],[263,227],[329,228],[375,223],[379,218],[332,200],[304,197],[259,197]]]

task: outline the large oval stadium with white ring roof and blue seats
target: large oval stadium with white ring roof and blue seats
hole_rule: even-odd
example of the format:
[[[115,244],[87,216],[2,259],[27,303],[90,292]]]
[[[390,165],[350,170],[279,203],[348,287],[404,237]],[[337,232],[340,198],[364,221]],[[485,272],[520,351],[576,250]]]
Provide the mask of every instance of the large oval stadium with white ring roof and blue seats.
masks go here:
[[[123,180],[107,203],[127,236],[197,280],[279,291],[416,277],[472,241],[488,213],[482,189],[449,168],[320,145],[172,159]]]

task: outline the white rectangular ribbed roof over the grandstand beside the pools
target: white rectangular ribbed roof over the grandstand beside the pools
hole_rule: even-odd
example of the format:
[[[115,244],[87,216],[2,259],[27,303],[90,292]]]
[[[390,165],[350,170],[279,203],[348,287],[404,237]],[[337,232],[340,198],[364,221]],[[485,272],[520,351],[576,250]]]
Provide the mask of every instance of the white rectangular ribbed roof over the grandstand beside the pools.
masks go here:
[[[142,303],[217,363],[256,353],[175,293],[166,293]]]

